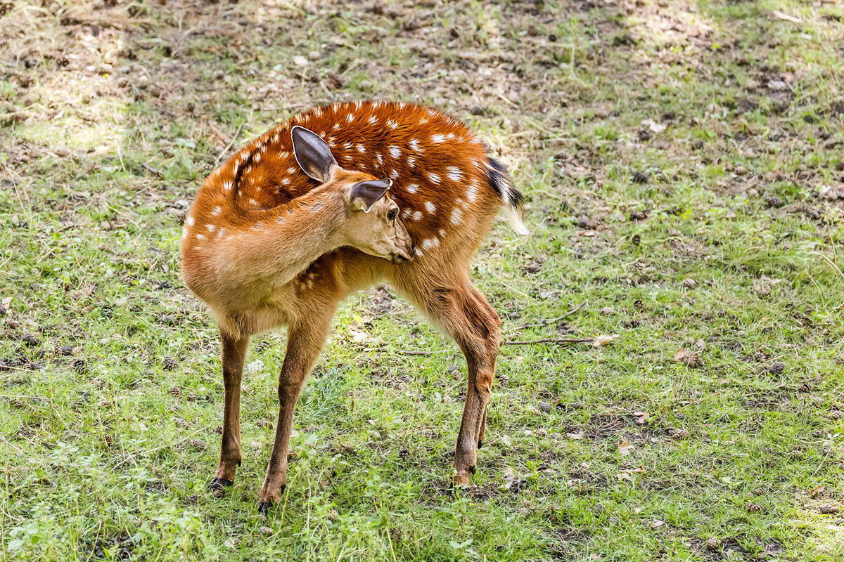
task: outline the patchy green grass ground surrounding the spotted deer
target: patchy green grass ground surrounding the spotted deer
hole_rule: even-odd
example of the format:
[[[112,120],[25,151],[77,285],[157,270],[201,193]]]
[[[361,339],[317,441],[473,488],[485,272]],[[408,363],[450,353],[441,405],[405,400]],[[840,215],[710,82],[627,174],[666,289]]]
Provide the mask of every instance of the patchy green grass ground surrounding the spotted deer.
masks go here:
[[[841,5],[106,4],[0,8],[0,559],[844,559]],[[214,498],[179,222],[252,136],[370,97],[465,119],[527,196],[472,266],[506,340],[619,337],[502,347],[452,494],[463,357],[352,299],[263,517],[284,331]]]

